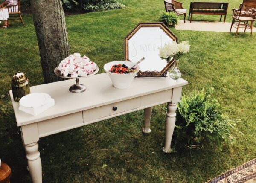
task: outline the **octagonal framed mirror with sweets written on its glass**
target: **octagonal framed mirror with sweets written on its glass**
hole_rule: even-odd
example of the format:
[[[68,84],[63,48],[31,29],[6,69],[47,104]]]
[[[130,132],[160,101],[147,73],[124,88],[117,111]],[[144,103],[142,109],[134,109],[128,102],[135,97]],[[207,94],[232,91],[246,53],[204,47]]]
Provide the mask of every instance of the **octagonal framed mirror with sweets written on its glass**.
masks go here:
[[[139,23],[125,37],[125,60],[136,63],[145,57],[138,77],[164,77],[174,59],[168,63],[160,58],[159,48],[172,41],[177,37],[163,23]]]

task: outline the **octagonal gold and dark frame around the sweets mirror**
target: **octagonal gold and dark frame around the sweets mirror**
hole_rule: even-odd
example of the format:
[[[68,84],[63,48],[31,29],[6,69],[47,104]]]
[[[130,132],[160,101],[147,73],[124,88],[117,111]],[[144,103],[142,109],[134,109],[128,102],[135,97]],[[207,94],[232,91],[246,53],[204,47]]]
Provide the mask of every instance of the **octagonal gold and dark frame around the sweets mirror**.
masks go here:
[[[141,22],[138,23],[137,26],[134,27],[134,29],[125,37],[125,61],[131,61],[129,60],[129,50],[128,50],[128,41],[129,39],[142,27],[159,27],[163,30],[163,32],[166,33],[173,41],[178,42],[178,38],[175,36],[175,34],[170,31],[170,29],[163,24],[162,22]],[[146,55],[145,55],[146,57]],[[137,77],[166,77],[167,71],[172,67],[174,64],[174,58],[166,65],[166,67],[163,68],[163,70],[159,71],[139,71],[137,73]]]

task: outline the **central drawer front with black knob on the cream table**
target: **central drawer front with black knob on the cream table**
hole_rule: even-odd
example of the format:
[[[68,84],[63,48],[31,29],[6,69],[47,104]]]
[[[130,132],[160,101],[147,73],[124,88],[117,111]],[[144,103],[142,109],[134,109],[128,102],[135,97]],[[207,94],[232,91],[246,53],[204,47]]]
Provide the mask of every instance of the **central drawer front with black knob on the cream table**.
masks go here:
[[[117,107],[117,109],[113,110],[113,107]],[[84,110],[83,118],[84,122],[90,122],[95,119],[100,119],[106,116],[122,113],[128,110],[136,109],[138,107],[140,107],[140,97],[121,102],[116,102],[109,105],[104,105],[101,107],[96,107],[89,110]]]

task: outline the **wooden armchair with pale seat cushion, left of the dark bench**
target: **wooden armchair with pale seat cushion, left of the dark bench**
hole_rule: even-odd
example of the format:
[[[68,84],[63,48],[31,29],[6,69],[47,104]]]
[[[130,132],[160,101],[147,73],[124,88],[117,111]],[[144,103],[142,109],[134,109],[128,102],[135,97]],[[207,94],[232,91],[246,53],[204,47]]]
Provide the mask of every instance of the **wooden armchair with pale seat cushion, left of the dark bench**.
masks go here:
[[[178,16],[184,15],[184,23],[186,23],[186,9],[183,8],[182,3],[175,0],[164,0],[166,12],[175,12]]]

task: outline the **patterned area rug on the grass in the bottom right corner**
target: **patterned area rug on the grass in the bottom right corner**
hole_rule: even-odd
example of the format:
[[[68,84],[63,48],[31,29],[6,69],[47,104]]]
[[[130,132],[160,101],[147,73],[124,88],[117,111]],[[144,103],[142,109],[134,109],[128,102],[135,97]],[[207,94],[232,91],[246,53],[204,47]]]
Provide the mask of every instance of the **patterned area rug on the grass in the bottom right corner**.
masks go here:
[[[207,183],[256,183],[256,158]]]

